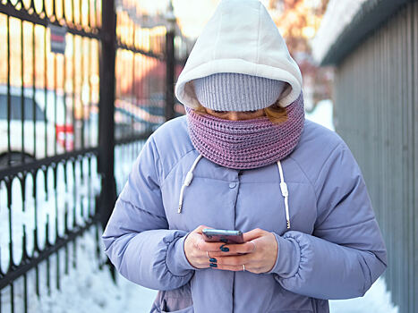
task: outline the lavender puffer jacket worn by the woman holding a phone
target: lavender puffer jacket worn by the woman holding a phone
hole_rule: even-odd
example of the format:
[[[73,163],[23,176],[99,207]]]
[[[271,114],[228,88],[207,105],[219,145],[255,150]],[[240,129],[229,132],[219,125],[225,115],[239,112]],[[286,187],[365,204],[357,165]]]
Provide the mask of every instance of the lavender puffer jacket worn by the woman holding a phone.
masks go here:
[[[127,279],[159,290],[151,312],[328,312],[328,299],[361,297],[387,256],[362,173],[345,142],[305,121],[282,160],[290,230],[277,164],[238,171],[199,157],[186,117],[147,141],[103,233],[107,256]],[[200,224],[272,232],[277,262],[266,274],[195,269],[183,242]]]

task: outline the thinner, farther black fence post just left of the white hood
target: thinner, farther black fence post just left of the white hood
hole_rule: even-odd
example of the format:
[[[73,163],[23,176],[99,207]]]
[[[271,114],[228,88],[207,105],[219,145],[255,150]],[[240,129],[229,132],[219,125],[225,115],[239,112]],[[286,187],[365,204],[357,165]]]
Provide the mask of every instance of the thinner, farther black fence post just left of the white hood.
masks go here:
[[[166,121],[175,117],[175,27],[166,31]]]

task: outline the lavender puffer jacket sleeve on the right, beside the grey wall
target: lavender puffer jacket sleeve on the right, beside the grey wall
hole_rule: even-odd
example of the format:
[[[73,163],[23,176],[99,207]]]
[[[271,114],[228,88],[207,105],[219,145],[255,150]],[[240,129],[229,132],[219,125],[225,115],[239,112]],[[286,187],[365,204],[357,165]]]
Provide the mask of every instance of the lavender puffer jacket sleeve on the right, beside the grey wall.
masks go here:
[[[277,261],[269,273],[286,290],[313,298],[363,296],[386,269],[387,252],[362,173],[344,142],[313,185],[314,232],[275,233]]]

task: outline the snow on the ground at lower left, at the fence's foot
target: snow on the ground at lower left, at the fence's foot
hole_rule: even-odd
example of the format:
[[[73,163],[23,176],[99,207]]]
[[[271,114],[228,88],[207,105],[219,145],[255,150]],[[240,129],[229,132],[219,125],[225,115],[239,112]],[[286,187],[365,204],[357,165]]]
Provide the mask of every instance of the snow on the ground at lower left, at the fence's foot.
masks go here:
[[[114,313],[149,312],[156,291],[143,288],[116,275],[117,285],[113,282],[107,266],[98,269],[95,242],[96,227],[84,233],[76,243],[76,255],[73,245],[69,247],[70,270],[64,275],[64,250],[60,250],[61,291],[56,290],[56,258],[50,258],[51,293],[47,294],[47,265],[39,266],[40,298],[35,293],[35,272],[28,275],[29,312],[42,313]],[[101,230],[98,230],[101,234]],[[100,241],[101,246],[101,241]],[[101,254],[104,258],[103,250]],[[71,267],[73,259],[77,267]],[[14,284],[14,311],[23,312],[23,279]],[[2,312],[11,312],[10,288],[2,290]]]

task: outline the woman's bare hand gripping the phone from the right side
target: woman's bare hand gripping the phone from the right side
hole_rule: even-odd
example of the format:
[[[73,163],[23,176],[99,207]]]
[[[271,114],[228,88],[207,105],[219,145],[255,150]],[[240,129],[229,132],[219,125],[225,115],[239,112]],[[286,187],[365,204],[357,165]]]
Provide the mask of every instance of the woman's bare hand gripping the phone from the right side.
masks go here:
[[[217,259],[216,268],[242,271],[244,265],[246,271],[255,274],[269,272],[277,259],[278,246],[275,235],[257,228],[243,233],[243,240],[246,242],[224,245],[224,249],[229,249],[227,252],[209,252],[210,258]]]

